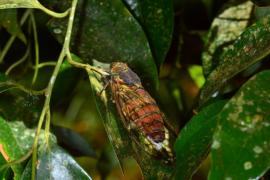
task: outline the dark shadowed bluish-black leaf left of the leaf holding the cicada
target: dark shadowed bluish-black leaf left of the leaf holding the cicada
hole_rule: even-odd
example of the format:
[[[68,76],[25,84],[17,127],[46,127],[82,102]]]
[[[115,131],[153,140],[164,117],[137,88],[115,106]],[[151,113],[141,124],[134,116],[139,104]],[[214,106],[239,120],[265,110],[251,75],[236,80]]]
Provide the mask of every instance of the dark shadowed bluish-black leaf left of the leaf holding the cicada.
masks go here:
[[[58,144],[73,156],[90,156],[97,158],[89,143],[77,132],[61,126],[54,126]],[[72,152],[72,153],[71,153]]]

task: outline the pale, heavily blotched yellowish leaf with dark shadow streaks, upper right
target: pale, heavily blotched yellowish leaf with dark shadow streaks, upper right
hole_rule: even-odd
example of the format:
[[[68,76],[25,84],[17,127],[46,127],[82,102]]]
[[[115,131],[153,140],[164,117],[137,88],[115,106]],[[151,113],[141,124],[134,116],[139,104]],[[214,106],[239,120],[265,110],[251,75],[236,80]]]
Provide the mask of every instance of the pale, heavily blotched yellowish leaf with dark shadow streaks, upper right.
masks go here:
[[[230,0],[214,18],[202,52],[205,78],[219,64],[223,54],[250,25],[254,5],[246,0]]]

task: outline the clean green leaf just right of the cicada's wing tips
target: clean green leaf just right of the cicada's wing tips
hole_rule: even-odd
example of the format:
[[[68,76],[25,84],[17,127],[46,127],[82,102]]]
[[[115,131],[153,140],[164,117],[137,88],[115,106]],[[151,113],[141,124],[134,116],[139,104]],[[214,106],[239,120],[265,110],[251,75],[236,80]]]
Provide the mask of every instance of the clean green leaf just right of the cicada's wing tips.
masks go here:
[[[173,179],[190,180],[211,149],[220,111],[228,100],[218,101],[193,117],[180,132],[174,150],[177,164]]]

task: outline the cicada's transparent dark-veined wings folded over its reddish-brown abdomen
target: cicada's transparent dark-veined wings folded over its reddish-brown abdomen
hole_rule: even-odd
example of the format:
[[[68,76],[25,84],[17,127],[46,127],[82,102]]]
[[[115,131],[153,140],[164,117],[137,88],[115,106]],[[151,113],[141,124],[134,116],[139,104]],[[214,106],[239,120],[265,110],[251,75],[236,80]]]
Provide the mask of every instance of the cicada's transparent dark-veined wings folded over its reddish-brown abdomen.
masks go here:
[[[119,88],[121,87],[121,88]],[[167,121],[164,114],[159,110],[159,108],[154,103],[148,102],[149,100],[146,100],[140,93],[138,93],[134,88],[128,87],[126,85],[122,84],[113,84],[113,93],[116,100],[116,105],[119,110],[120,116],[122,118],[122,121],[126,127],[126,129],[131,134],[131,137],[135,140],[135,142],[148,154],[150,155],[155,161],[159,162],[160,164],[168,167],[172,167],[176,164],[176,155],[173,151],[173,128],[171,127],[170,123]],[[143,87],[141,87],[142,90]],[[144,90],[145,91],[145,90]],[[146,91],[145,91],[146,92]],[[147,93],[147,92],[146,92]],[[148,94],[148,93],[147,93]],[[151,96],[149,96],[151,97]],[[142,104],[137,104],[137,103]],[[153,100],[153,102],[155,102]],[[135,104],[135,105],[134,105]],[[128,112],[125,112],[123,109],[123,105],[126,107],[129,107],[131,109],[134,109],[133,106],[153,106],[155,107],[154,112],[148,112],[147,110],[144,110],[143,113],[137,112],[137,121],[141,121],[141,124],[144,124],[142,127],[138,126],[138,122],[134,122],[134,118],[132,118],[131,112],[128,111],[129,108],[126,108]],[[143,108],[142,108],[143,109]],[[144,115],[142,115],[144,114]],[[164,122],[160,122],[161,120],[154,120],[152,123],[145,123],[142,121],[142,118],[145,116],[154,116],[158,115],[162,118]],[[140,122],[139,122],[140,124]],[[162,124],[164,124],[162,126]],[[144,130],[144,129],[145,130]],[[162,129],[161,129],[162,128]],[[162,140],[153,140],[153,137],[151,134],[155,134],[155,132],[148,133],[146,131],[151,129],[162,131],[161,139]],[[158,134],[158,135],[160,135]],[[155,134],[157,135],[157,134]]]

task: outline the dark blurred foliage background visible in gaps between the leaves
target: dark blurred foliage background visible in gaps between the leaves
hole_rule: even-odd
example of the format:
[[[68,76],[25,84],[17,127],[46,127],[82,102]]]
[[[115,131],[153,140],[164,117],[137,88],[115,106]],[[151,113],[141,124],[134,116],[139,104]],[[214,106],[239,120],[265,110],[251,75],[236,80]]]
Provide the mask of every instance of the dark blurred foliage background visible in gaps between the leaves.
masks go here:
[[[198,106],[200,89],[205,81],[201,62],[203,46],[211,22],[218,10],[226,2],[227,0],[173,0],[173,37],[170,49],[159,72],[159,96],[157,103],[178,133],[193,117],[193,109],[196,109]],[[19,8],[17,11],[18,16],[22,16],[24,11],[24,8]],[[37,9],[34,11],[34,14],[37,23],[40,63],[55,61],[62,46],[46,27],[46,23],[50,21],[51,17]],[[22,31],[27,32],[27,27],[28,25],[25,23],[22,26]],[[25,34],[26,38],[28,38],[27,33]],[[2,28],[0,37],[2,48],[7,43],[10,34]],[[33,38],[31,41],[33,46]],[[25,51],[25,44],[16,38],[0,66],[0,71],[5,72],[12,63],[18,60],[18,57],[24,55]],[[35,51],[31,53],[32,60],[29,59],[28,61],[34,62]],[[103,58],[107,59],[107,57]],[[110,61],[110,59],[108,60]],[[254,65],[255,67],[256,64]],[[68,151],[71,155],[75,155],[76,160],[85,168],[92,179],[106,178],[107,175],[107,179],[110,180],[124,179],[108,140],[104,124],[98,113],[88,75],[82,69],[74,69],[76,70],[67,72],[66,75],[79,76],[81,79],[74,81],[73,84],[69,84],[70,87],[68,89],[70,91],[61,92],[61,89],[59,90],[57,87],[54,87],[52,91],[52,125],[72,129],[84,137],[90,144],[98,158],[76,156],[76,149]],[[45,66],[39,69],[38,83],[35,83],[32,89],[41,90],[46,87],[52,70],[53,66]],[[34,69],[31,69],[26,63],[22,63],[14,68],[9,76],[25,87],[29,87],[31,84],[29,79],[32,79],[33,74]],[[243,76],[243,74],[238,76]],[[56,83],[62,83],[64,86],[65,76],[57,77]],[[223,89],[225,92],[230,92],[239,87],[240,84],[241,82],[238,82],[236,77],[236,80],[233,80],[232,83]],[[144,84],[142,85],[144,86]],[[61,86],[59,85],[59,87]],[[25,98],[27,96],[26,93],[19,89],[12,89],[4,93],[4,96],[7,94],[19,95]],[[57,97],[61,96],[61,93],[64,94],[64,98],[61,98],[59,102]],[[44,99],[41,96],[36,106],[42,109],[43,102]],[[59,143],[65,149],[64,143],[61,144],[61,141]],[[108,165],[108,162],[110,162],[110,165]],[[208,156],[192,179],[207,179],[209,168],[210,158]],[[125,179],[142,179],[140,169],[132,158],[125,160],[124,172]]]

